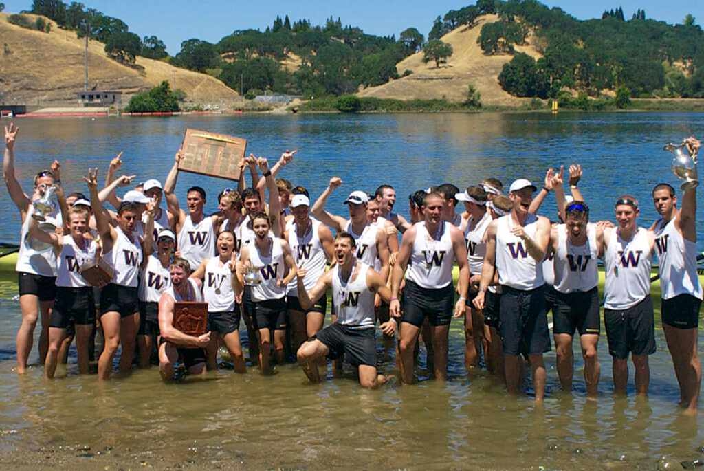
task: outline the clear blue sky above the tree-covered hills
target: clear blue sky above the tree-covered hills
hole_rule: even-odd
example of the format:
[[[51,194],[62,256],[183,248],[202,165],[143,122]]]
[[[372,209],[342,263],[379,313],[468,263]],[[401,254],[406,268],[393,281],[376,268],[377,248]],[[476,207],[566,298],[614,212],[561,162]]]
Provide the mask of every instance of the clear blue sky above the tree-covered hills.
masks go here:
[[[5,11],[17,13],[32,6],[30,0],[0,0]],[[65,3],[70,3],[66,1]],[[168,52],[176,54],[181,42],[197,37],[209,42],[234,30],[248,28],[265,30],[273,23],[276,15],[289,15],[291,21],[308,18],[313,25],[325,24],[329,16],[341,18],[344,25],[361,27],[369,34],[389,36],[398,34],[406,27],[413,26],[427,36],[437,15],[449,10],[474,4],[474,0],[83,0],[84,4],[114,16],[130,25],[130,31],[140,37],[156,35],[165,42]],[[682,23],[687,13],[696,17],[696,23],[704,21],[702,0],[591,0],[566,1],[544,0],[548,6],[560,6],[575,18],[601,18],[604,10],[623,7],[624,15],[630,18],[638,8],[646,11],[648,18],[667,23]]]

